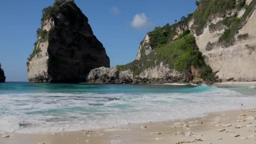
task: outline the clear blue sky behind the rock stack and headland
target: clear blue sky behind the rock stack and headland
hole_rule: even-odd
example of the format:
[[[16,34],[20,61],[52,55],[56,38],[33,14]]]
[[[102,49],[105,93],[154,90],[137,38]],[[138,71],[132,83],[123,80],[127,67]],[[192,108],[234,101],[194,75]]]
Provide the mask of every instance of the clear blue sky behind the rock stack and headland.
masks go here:
[[[2,0],[0,63],[6,81],[27,80],[27,57],[36,41],[42,9],[54,0]],[[133,61],[147,32],[195,11],[195,0],[75,0],[103,43],[111,66]]]

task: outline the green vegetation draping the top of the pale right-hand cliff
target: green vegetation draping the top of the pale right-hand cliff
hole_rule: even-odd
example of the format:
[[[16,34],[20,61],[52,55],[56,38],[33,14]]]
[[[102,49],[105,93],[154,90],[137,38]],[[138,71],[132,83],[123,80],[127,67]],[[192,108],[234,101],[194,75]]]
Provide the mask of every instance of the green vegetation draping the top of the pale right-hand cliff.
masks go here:
[[[203,28],[209,20],[209,16],[213,14],[226,14],[227,11],[231,13],[231,11],[240,11],[242,8],[245,8],[245,13],[242,17],[238,18],[237,13],[235,13],[219,21],[228,27],[219,38],[219,42],[228,46],[232,45],[235,41],[235,35],[243,22],[246,21],[248,16],[252,13],[253,8],[256,6],[256,0],[253,0],[248,6],[246,5],[246,0],[200,0],[197,5],[197,10],[193,14],[193,18],[195,19],[195,32],[197,35],[202,34]]]

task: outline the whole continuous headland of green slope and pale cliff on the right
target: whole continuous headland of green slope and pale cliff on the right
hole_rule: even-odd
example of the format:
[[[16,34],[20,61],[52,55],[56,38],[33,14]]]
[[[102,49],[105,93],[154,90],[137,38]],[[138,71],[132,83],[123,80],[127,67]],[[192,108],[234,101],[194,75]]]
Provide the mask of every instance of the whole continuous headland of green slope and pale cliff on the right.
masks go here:
[[[136,60],[93,69],[89,83],[212,83],[256,80],[256,0],[200,0],[181,21],[156,27]]]

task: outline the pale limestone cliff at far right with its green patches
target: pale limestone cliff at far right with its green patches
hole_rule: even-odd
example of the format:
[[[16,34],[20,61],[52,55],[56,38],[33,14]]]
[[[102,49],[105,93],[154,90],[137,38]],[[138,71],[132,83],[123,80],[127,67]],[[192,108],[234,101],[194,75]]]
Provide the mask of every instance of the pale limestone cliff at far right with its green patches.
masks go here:
[[[198,11],[203,11],[205,6],[200,6]],[[196,19],[189,23],[206,63],[223,81],[256,80],[255,9],[256,0],[246,0],[239,8],[212,13],[202,32],[196,32]]]

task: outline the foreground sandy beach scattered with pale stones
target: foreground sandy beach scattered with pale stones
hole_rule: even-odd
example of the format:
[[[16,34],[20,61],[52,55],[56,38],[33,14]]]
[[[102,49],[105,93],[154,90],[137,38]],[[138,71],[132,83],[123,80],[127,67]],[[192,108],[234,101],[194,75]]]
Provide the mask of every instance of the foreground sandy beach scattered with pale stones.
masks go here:
[[[48,134],[7,133],[1,144],[255,144],[256,109],[210,113],[206,117],[132,123],[116,128]],[[7,136],[7,137],[6,137]],[[9,136],[9,137],[8,137]],[[6,137],[6,138],[4,138]]]

